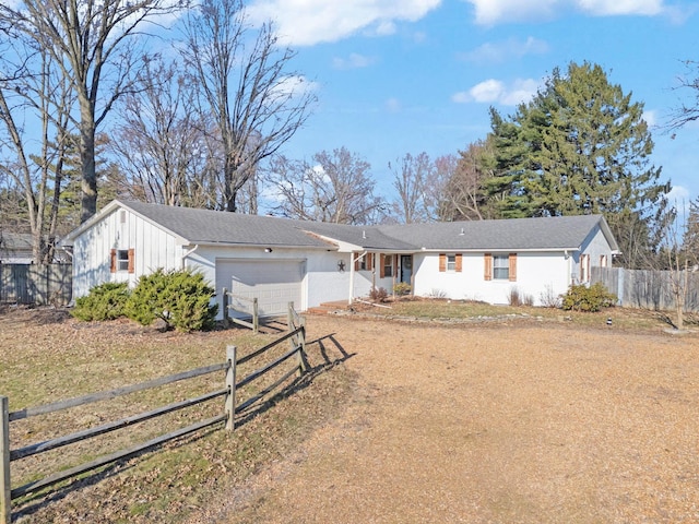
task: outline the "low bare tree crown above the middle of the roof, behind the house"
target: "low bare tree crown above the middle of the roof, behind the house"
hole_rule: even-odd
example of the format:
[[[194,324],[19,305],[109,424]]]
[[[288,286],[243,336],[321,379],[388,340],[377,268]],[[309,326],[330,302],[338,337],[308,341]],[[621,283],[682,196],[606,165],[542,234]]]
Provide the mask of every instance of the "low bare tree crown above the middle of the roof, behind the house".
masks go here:
[[[292,218],[335,224],[371,224],[386,207],[374,194],[370,165],[345,147],[313,155],[312,163],[276,157],[270,181],[276,212]]]

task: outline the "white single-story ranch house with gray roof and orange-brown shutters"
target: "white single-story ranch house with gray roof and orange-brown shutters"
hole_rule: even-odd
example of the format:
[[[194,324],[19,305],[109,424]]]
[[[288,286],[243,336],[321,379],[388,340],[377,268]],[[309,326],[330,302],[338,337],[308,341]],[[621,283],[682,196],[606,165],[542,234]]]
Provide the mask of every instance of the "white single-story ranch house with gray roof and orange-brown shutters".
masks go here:
[[[513,289],[542,303],[618,246],[601,215],[348,226],[142,202],[112,201],[72,231],[73,297],[105,282],[135,285],[163,267],[201,271],[216,289],[257,297],[262,314],[392,291],[508,303]],[[221,310],[220,310],[221,314]]]

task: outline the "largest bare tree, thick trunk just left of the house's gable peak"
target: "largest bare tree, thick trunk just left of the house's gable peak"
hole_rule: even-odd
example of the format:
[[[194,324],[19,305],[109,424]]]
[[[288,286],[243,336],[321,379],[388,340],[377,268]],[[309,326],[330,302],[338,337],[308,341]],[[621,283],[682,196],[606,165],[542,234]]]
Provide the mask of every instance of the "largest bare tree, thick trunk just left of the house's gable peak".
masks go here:
[[[81,222],[97,210],[95,134],[115,102],[131,88],[137,52],[127,38],[144,21],[179,9],[171,0],[22,0],[0,4],[0,24],[60,68],[79,107]]]

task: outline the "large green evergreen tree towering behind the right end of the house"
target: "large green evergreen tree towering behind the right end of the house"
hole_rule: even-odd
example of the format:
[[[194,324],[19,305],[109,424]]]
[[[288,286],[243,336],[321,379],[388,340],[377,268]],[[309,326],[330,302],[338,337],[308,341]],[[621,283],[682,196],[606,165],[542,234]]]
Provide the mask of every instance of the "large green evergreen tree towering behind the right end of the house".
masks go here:
[[[604,214],[624,264],[657,248],[670,182],[650,163],[643,104],[604,70],[571,62],[509,119],[491,110],[495,176],[486,192],[501,217]]]

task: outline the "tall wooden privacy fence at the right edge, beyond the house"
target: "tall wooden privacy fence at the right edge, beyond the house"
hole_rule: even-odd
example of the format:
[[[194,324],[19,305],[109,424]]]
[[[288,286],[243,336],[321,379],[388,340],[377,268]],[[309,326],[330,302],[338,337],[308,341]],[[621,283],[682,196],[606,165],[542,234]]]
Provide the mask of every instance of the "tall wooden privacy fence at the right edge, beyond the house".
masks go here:
[[[592,283],[601,282],[619,299],[619,306],[668,311],[675,308],[672,271],[592,267]],[[685,311],[699,311],[699,273],[689,271],[685,294]],[[684,278],[684,277],[683,277]]]

